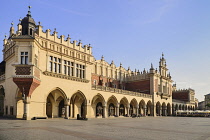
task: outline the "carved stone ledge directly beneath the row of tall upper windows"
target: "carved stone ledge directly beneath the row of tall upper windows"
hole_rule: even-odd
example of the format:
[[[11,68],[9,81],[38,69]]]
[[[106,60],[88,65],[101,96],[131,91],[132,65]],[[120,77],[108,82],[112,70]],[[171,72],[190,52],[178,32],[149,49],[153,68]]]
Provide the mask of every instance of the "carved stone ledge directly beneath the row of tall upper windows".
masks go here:
[[[72,81],[76,81],[76,82],[83,82],[83,83],[89,82],[89,80],[87,80],[87,79],[80,79],[77,77],[67,76],[67,75],[58,74],[58,73],[52,73],[52,72],[48,72],[48,71],[44,71],[43,74],[47,75],[47,76],[52,76],[52,77],[56,77],[56,78],[66,79],[66,80],[72,80]]]

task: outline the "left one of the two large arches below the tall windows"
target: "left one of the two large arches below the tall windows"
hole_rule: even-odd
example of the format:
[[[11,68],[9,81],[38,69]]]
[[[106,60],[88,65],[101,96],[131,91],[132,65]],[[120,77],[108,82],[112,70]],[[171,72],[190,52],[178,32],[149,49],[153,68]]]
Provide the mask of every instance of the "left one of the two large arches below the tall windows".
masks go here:
[[[65,102],[67,101],[65,93],[56,88],[51,91],[46,100],[46,115],[48,118],[65,117]]]

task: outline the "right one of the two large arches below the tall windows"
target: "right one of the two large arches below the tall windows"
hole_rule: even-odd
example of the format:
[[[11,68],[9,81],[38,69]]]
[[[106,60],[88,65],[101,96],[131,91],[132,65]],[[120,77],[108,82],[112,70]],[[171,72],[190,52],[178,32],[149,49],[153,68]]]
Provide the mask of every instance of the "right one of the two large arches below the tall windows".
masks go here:
[[[75,94],[72,95],[70,104],[71,104],[70,116],[72,118],[75,118],[78,115],[80,117],[86,118],[87,99],[81,91],[77,91]]]

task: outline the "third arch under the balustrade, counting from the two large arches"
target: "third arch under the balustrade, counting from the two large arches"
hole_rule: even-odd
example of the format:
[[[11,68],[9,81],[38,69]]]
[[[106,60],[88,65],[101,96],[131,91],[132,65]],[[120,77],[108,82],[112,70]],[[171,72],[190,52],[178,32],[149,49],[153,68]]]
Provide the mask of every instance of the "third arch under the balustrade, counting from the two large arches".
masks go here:
[[[129,106],[129,103],[128,103],[128,100],[126,97],[123,97],[121,100],[120,100],[120,110],[119,110],[119,115],[120,116],[127,116],[128,115],[128,108]]]

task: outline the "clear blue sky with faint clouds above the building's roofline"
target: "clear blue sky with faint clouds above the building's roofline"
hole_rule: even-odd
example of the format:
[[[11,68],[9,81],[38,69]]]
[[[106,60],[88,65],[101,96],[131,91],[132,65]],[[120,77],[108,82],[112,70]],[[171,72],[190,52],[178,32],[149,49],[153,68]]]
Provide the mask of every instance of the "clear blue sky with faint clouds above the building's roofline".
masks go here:
[[[90,43],[96,59],[142,71],[158,67],[163,52],[177,88],[195,89],[199,101],[210,93],[208,0],[1,0],[1,40],[28,5],[44,30]]]

